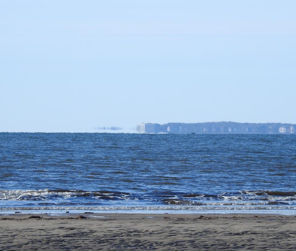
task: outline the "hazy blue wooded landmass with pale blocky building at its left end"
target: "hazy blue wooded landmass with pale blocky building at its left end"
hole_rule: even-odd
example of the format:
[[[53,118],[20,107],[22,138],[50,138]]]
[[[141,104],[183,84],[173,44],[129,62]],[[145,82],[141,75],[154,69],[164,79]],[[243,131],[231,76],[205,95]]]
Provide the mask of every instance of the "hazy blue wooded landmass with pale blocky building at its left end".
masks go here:
[[[136,130],[140,133],[174,133],[174,134],[294,134],[295,124],[282,123],[141,123]]]

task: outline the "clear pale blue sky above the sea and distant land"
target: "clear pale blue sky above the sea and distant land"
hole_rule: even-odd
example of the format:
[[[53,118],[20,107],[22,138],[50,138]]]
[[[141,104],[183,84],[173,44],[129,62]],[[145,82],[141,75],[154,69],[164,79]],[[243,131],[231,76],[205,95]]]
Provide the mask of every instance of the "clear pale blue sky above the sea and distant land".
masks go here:
[[[296,1],[0,2],[0,132],[296,124]]]

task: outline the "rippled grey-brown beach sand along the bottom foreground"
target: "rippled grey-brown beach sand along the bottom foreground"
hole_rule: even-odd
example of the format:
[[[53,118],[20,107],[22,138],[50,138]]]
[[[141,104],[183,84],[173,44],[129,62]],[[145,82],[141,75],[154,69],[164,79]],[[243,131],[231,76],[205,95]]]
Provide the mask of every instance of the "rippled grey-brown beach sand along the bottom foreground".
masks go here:
[[[83,214],[86,219],[73,214],[38,215],[43,219],[31,216],[37,215],[0,216],[0,250],[296,249],[296,216]]]

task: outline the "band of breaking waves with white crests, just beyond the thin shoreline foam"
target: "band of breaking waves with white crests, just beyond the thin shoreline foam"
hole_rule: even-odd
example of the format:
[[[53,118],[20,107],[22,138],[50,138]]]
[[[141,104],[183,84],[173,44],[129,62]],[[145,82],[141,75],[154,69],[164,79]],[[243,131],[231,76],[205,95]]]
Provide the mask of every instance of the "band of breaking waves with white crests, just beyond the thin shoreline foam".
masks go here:
[[[238,192],[225,192],[220,194],[182,193],[174,191],[151,191],[132,194],[122,191],[87,191],[78,189],[40,189],[40,190],[0,190],[0,200],[52,200],[54,198],[79,198],[99,200],[144,200],[167,205],[210,205],[211,203],[224,203],[223,205],[246,205],[246,203],[259,202],[262,205],[287,205],[296,203],[296,192],[269,191],[269,190],[243,190]],[[290,202],[290,203],[287,203]],[[215,205],[215,204],[211,204]],[[218,204],[217,204],[218,205]],[[219,204],[222,205],[222,204]]]

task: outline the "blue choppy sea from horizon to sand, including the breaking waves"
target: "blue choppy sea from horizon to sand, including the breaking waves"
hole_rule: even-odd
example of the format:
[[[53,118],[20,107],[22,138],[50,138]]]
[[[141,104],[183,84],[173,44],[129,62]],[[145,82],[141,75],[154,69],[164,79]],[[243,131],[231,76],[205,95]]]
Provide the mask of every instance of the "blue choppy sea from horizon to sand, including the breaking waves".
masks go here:
[[[296,214],[296,135],[0,133],[0,211]]]

